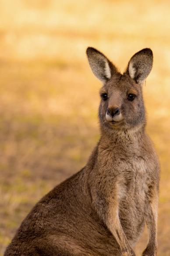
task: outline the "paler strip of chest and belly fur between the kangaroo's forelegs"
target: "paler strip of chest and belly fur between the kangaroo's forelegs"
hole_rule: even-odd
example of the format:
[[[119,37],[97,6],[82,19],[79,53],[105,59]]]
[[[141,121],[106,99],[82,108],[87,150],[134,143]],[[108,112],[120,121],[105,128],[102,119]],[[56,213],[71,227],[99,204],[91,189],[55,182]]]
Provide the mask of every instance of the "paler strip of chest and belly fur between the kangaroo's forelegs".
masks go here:
[[[133,243],[144,227],[149,170],[143,157],[133,157],[133,160],[129,158],[120,165],[122,169],[117,176],[119,217],[127,238]]]

